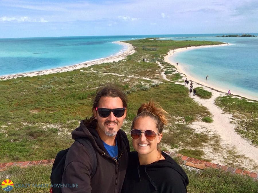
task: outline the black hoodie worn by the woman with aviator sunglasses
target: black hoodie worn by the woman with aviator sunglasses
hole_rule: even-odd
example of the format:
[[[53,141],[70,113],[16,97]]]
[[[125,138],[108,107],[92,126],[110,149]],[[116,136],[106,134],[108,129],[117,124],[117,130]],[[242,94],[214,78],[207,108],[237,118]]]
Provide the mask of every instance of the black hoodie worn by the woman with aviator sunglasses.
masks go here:
[[[188,177],[173,158],[162,152],[165,160],[140,165],[137,152],[130,152],[122,192],[187,192]]]

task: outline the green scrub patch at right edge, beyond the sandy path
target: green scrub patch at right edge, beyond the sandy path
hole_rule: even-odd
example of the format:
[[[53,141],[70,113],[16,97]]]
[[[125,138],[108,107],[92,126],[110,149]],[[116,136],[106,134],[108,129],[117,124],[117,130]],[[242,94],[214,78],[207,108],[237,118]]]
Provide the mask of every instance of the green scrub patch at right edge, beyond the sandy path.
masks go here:
[[[250,140],[252,144],[258,145],[258,103],[256,101],[224,96],[216,98],[215,103],[223,111],[233,114],[238,124],[235,129],[237,133]]]

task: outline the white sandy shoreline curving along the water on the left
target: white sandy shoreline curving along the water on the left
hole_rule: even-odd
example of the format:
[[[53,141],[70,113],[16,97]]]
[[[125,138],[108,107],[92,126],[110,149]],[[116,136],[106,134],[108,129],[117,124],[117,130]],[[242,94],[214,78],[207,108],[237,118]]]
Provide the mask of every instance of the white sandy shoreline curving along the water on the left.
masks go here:
[[[118,53],[115,53],[114,55],[111,55],[109,57],[85,61],[85,62],[75,64],[75,65],[69,65],[69,66],[65,66],[65,67],[40,70],[40,71],[34,71],[34,72],[28,72],[28,73],[3,75],[3,76],[0,76],[0,81],[7,80],[7,79],[15,79],[17,77],[27,77],[27,76],[32,77],[32,76],[38,76],[38,75],[54,74],[54,73],[58,73],[58,72],[61,73],[61,72],[73,71],[75,69],[80,69],[83,67],[89,67],[89,66],[96,65],[96,64],[120,61],[120,60],[125,59],[126,56],[131,55],[135,52],[134,47],[130,43],[125,43],[125,42],[121,42],[121,41],[116,41],[114,43],[123,45],[124,47],[127,47],[127,48],[126,48],[126,50],[124,50],[124,48],[123,48]]]

